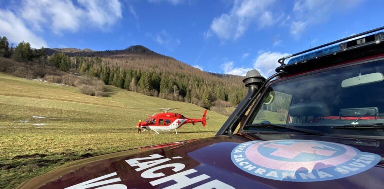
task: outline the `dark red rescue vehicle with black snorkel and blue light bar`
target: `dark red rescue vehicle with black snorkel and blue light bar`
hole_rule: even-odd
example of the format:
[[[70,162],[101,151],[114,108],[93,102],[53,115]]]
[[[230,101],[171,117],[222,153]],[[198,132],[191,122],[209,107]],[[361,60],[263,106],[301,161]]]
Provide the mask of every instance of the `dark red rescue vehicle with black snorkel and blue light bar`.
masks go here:
[[[383,188],[382,29],[281,58],[268,79],[249,71],[215,137],[81,159],[19,188]]]

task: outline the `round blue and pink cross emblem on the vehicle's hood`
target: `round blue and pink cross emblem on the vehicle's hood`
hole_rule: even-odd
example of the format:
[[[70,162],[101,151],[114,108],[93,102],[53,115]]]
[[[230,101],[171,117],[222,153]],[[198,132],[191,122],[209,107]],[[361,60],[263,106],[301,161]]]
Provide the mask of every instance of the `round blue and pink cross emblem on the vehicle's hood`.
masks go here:
[[[314,140],[249,141],[237,145],[232,162],[255,176],[315,182],[345,178],[375,166],[381,157],[332,142]]]

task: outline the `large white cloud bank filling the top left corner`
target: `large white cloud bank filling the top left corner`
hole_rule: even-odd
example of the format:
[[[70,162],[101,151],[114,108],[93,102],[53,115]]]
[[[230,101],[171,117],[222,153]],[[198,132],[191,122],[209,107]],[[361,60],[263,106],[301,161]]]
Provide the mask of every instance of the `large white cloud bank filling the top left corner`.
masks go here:
[[[39,48],[47,44],[36,33],[46,29],[56,34],[107,30],[122,18],[122,5],[119,0],[22,0],[6,10],[0,9],[0,14],[1,35],[11,42],[25,41]]]

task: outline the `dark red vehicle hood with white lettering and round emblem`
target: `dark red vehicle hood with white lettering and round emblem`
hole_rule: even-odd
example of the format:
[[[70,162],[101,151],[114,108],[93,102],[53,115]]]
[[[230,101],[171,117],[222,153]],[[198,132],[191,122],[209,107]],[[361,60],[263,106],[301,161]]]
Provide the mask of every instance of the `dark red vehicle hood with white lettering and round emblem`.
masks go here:
[[[300,148],[299,145],[308,140],[320,147],[313,147],[318,149],[316,154],[305,156],[305,146]],[[258,144],[264,145],[265,142],[269,142],[266,151],[254,148]],[[292,142],[297,144],[297,147],[286,148],[292,146]],[[242,133],[216,136],[77,160],[28,180],[19,188],[382,188],[384,165],[381,156],[384,149],[380,142],[293,134]],[[321,145],[324,145],[324,148]],[[283,146],[285,151],[278,151],[276,146]],[[344,164],[338,167],[332,166],[332,163],[327,164],[330,161],[325,160],[329,159],[319,158],[329,155],[329,151],[337,151],[339,146],[350,146],[350,149],[360,151],[361,154],[350,157],[349,160],[349,157],[345,157],[347,161],[341,162]],[[256,151],[252,151],[251,147]],[[304,155],[297,151],[303,152]],[[262,153],[272,156],[265,159],[267,155],[256,155]],[[298,155],[295,156],[294,153]],[[240,154],[244,156],[239,156]],[[279,155],[292,159],[289,161],[293,163],[292,166],[301,166],[297,172],[302,174],[296,173],[293,177],[281,178],[284,168],[287,169],[286,166],[277,167],[279,170],[276,171],[270,169],[269,166],[279,166],[275,163]],[[299,157],[301,160],[294,160]],[[310,159],[313,157],[315,159]],[[357,158],[362,159],[356,162]],[[308,163],[315,161],[320,163],[310,168]],[[258,168],[266,171],[257,170]]]

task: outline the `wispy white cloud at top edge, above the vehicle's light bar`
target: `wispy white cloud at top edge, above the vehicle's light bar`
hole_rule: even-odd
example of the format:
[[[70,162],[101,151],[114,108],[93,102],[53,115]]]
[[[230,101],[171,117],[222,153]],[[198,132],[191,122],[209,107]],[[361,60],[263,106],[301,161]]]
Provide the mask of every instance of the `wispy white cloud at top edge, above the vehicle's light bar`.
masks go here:
[[[347,13],[365,0],[296,0],[293,6],[292,35],[300,35],[308,25],[328,20],[332,14]]]

